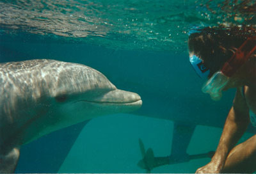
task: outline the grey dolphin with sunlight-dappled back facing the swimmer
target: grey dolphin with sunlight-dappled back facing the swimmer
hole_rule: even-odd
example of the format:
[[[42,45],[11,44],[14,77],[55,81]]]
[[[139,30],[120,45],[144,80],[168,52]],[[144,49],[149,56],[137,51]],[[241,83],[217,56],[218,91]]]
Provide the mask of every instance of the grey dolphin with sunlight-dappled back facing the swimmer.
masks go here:
[[[21,145],[96,116],[134,111],[142,101],[93,68],[33,59],[0,64],[0,104],[0,172],[13,173]]]

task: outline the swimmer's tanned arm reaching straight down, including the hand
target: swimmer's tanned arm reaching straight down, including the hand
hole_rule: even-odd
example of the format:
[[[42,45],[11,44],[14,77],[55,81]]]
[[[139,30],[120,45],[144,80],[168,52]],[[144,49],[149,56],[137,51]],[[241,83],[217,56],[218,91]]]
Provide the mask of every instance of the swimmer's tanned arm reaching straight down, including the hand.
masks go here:
[[[249,108],[241,95],[241,90],[237,88],[216,152],[211,162],[196,170],[196,173],[220,173],[230,150],[244,134],[248,123],[250,123]]]

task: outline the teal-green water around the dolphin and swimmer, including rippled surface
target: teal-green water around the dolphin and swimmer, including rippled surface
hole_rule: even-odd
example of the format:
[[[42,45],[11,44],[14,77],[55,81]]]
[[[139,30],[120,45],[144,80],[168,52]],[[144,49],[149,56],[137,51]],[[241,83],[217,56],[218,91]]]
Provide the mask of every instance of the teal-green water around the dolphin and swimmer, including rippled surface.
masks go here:
[[[234,90],[214,102],[188,60],[191,29],[241,25],[241,1],[0,1],[0,61],[58,59],[95,68],[143,106],[52,132],[22,146],[16,173],[145,173],[141,149],[155,157],[195,155],[218,145]],[[220,6],[222,5],[222,8]],[[173,136],[175,123],[194,127],[191,139]],[[179,132],[178,131],[178,132]],[[252,136],[250,129],[241,141]],[[189,141],[190,140],[190,141]],[[188,143],[186,150],[181,147]],[[185,152],[186,151],[186,152]],[[194,173],[209,157],[154,168]]]

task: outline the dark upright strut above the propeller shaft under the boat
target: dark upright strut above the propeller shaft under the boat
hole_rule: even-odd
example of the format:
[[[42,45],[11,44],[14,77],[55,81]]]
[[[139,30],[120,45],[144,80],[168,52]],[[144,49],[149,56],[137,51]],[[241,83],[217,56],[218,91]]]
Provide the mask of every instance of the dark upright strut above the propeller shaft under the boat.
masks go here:
[[[184,123],[174,123],[172,151],[169,164],[179,162],[188,162],[189,155],[186,153],[190,139],[195,131],[195,125],[187,125]]]

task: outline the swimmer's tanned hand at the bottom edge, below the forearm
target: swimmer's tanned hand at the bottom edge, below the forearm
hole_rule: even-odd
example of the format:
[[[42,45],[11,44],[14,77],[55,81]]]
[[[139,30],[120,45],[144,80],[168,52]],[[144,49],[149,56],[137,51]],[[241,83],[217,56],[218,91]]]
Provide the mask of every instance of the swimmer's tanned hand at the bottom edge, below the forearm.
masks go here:
[[[196,173],[220,173],[223,165],[220,162],[211,161],[202,168],[198,168]]]

